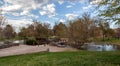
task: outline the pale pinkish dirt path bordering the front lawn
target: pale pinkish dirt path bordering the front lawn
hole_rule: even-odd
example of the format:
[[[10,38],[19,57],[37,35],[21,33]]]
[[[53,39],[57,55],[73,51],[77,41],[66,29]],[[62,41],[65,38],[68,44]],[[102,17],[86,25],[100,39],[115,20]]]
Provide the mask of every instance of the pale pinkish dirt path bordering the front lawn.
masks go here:
[[[41,52],[46,51],[49,48],[50,52],[61,52],[61,51],[77,51],[74,48],[66,47],[60,48],[55,46],[28,46],[28,45],[19,45],[10,48],[0,49],[0,57],[2,56],[10,56],[10,55],[19,55],[19,54],[26,54],[26,53],[34,53],[34,52]]]

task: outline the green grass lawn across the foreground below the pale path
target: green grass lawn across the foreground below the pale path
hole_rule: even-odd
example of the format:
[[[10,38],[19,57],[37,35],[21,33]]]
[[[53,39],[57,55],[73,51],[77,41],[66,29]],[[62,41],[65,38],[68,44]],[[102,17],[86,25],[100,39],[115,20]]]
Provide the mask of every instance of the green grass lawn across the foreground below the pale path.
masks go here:
[[[42,52],[0,57],[0,66],[120,66],[120,51]]]

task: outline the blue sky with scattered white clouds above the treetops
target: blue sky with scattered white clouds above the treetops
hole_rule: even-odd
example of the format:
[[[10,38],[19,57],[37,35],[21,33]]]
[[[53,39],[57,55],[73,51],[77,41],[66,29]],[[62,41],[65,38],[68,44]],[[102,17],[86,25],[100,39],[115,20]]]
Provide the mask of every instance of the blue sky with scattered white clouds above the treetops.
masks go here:
[[[20,28],[32,24],[67,22],[81,17],[85,12],[95,16],[95,4],[100,0],[0,0],[0,10],[8,24]]]

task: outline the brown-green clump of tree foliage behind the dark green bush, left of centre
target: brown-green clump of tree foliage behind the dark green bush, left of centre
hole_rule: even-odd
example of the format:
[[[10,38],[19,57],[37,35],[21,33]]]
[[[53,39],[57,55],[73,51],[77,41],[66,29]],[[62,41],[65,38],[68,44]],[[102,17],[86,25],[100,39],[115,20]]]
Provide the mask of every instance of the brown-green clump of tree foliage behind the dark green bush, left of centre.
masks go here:
[[[27,28],[22,28],[19,32],[19,36],[23,38],[34,37],[34,38],[48,38],[50,36],[50,29],[48,24],[42,25],[40,22],[34,22]]]

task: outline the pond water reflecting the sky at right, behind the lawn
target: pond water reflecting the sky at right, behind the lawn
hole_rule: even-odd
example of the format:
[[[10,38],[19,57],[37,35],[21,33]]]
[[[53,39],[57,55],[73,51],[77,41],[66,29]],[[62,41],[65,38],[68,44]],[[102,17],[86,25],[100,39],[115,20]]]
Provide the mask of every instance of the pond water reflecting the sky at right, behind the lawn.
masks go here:
[[[81,47],[84,50],[88,51],[116,51],[120,50],[119,45],[111,45],[111,44],[86,44]]]

